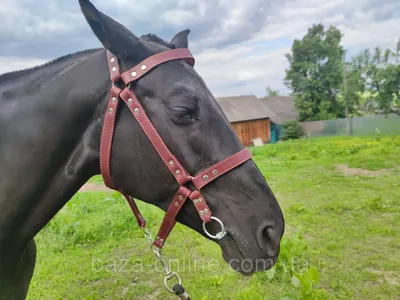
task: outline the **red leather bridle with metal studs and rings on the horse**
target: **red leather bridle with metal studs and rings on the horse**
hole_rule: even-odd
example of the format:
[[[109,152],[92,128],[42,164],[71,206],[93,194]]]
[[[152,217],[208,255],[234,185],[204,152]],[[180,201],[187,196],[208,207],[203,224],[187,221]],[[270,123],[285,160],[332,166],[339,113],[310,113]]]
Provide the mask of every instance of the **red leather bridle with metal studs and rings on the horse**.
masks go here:
[[[176,223],[175,218],[178,212],[183,207],[185,201],[188,198],[192,200],[194,207],[196,208],[201,220],[203,221],[203,229],[205,233],[213,239],[222,239],[225,236],[226,231],[224,229],[223,223],[218,218],[212,216],[206,199],[200,193],[200,189],[210,182],[214,181],[218,177],[222,176],[223,174],[227,173],[228,171],[238,167],[247,160],[251,159],[252,155],[249,149],[244,148],[241,151],[203,170],[197,175],[191,176],[180,164],[178,159],[171,153],[171,151],[165,145],[163,139],[158,134],[157,130],[147,117],[146,112],[138,101],[135,93],[130,89],[130,85],[132,84],[132,82],[135,82],[145,76],[148,72],[150,72],[158,65],[168,61],[180,59],[185,60],[192,67],[194,66],[195,60],[191,52],[186,48],[179,48],[152,55],[132,69],[121,74],[118,59],[109,51],[107,51],[108,66],[113,86],[110,90],[110,98],[107,105],[107,111],[104,116],[103,130],[101,134],[100,169],[103,176],[104,184],[111,189],[119,191],[128,201],[133,211],[133,214],[136,217],[139,227],[144,230],[145,237],[151,244],[153,252],[156,254],[156,257],[162,262],[164,266],[164,269],[167,273],[164,277],[164,283],[168,291],[177,294],[182,299],[188,299],[187,294],[184,292],[181,286],[179,275],[176,272],[171,272],[169,270],[165,260],[161,256],[161,249]],[[117,84],[121,83],[121,81],[125,85],[123,89],[117,86]],[[121,99],[123,102],[125,102],[129,110],[132,112],[133,116],[142,127],[143,131],[153,144],[154,148],[157,150],[159,156],[164,161],[165,165],[170,170],[172,175],[175,177],[176,181],[179,183],[179,189],[176,191],[171,201],[171,204],[166,211],[155,240],[152,239],[150,232],[147,230],[146,221],[139,212],[139,209],[134,199],[124,193],[120,188],[118,188],[111,176],[111,148],[114,135],[115,120]],[[189,183],[191,183],[195,187],[194,190],[191,190],[187,187]],[[206,224],[211,222],[212,220],[217,221],[221,226],[221,231],[215,235],[210,234],[206,229]],[[171,289],[168,287],[167,280],[171,279],[174,276],[178,278],[179,285],[175,285],[174,288]]]

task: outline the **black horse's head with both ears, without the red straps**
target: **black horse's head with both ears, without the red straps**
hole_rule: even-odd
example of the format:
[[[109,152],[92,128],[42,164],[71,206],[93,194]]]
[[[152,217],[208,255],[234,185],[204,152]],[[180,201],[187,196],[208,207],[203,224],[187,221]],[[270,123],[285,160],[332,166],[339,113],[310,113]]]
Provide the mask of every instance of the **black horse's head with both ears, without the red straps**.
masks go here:
[[[118,60],[121,73],[157,53],[188,48],[189,30],[177,33],[170,42],[153,35],[137,37],[90,1],[79,3],[96,37]],[[129,89],[165,145],[192,176],[243,149],[206,83],[185,60],[156,66]],[[99,102],[108,101],[108,97]],[[118,188],[166,211],[179,184],[123,103],[116,116],[112,149],[110,169]],[[279,255],[284,219],[255,163],[247,160],[204,186],[201,193],[225,226],[227,234],[217,241],[225,261],[243,274],[273,266]],[[208,237],[190,201],[176,219]]]

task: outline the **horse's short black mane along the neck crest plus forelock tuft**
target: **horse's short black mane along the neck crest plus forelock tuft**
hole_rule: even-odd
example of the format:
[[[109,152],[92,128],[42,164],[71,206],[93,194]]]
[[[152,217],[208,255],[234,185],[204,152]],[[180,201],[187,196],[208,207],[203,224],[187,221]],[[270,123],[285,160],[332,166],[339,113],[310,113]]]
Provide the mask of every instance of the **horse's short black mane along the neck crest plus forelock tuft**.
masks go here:
[[[142,35],[140,37],[140,39],[145,40],[145,41],[149,41],[149,42],[154,42],[156,44],[160,44],[160,45],[165,46],[165,47],[170,48],[170,49],[174,49],[175,48],[175,46],[173,44],[166,42],[165,40],[161,39],[160,37],[158,37],[157,35],[152,34],[152,33],[149,33],[149,34],[146,34],[146,35]],[[4,74],[0,74],[0,82],[5,82],[5,81],[8,81],[8,80],[18,79],[21,76],[28,75],[28,74],[31,74],[33,72],[42,70],[42,69],[44,69],[44,68],[46,68],[48,66],[51,66],[53,64],[64,62],[64,61],[66,61],[68,59],[71,59],[71,58],[74,58],[76,56],[92,54],[92,53],[94,53],[96,51],[99,51],[101,49],[102,48],[86,49],[86,50],[78,51],[78,52],[75,52],[75,53],[70,53],[70,54],[66,54],[66,55],[60,56],[60,57],[58,57],[58,58],[56,58],[54,60],[48,61],[48,62],[46,62],[44,64],[37,65],[37,66],[31,67],[31,68],[22,69],[22,70],[16,70],[16,71],[11,71],[11,72],[7,72],[7,73],[4,73]]]

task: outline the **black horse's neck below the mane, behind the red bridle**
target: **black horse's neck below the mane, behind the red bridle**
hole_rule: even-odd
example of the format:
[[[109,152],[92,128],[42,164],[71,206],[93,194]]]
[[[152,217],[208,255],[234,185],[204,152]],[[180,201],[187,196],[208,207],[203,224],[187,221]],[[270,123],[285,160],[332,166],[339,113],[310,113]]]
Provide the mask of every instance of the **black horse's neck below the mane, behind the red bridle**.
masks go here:
[[[70,60],[62,68],[50,65],[27,74],[30,84],[42,80],[35,92],[31,85],[31,93],[24,93],[24,78],[0,86],[0,123],[6,125],[0,135],[0,178],[5,178],[0,182],[0,244],[28,243],[99,173],[110,87],[105,51]]]

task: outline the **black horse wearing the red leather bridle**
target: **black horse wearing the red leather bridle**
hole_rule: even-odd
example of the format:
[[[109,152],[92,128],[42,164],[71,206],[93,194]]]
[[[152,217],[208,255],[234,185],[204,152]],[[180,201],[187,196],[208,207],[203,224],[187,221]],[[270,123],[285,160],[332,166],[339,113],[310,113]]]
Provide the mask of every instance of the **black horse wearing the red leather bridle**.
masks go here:
[[[155,34],[137,37],[90,1],[79,0],[79,5],[103,47],[0,75],[0,299],[26,299],[35,268],[35,236],[98,174],[128,201],[140,199],[166,213],[177,206],[168,224],[179,222],[217,243],[237,272],[250,276],[271,268],[279,257],[283,213],[252,158],[233,161],[244,147],[195,71],[188,54],[190,30],[178,32],[170,42]],[[186,52],[179,58],[176,51]],[[116,69],[110,69],[111,62],[124,74],[170,52],[175,59],[154,64],[127,85],[110,79]],[[111,96],[118,87],[131,96],[125,102],[117,93],[121,101],[113,111],[110,105],[117,104]],[[144,111],[141,116],[132,116],[139,109],[129,107],[131,97]],[[101,147],[110,115],[115,123],[107,144],[112,151],[103,162],[109,171],[105,177]],[[140,118],[147,118],[150,127],[143,127]],[[160,158],[146,128],[152,128],[170,161]],[[179,170],[172,172],[174,163],[181,167],[180,175],[191,174],[186,181],[178,180]],[[199,181],[196,185],[193,179],[206,181],[223,165],[224,174],[201,185],[200,194]],[[212,166],[217,168],[204,175],[202,170]],[[181,189],[193,201],[179,204]],[[219,226],[224,234],[215,238],[210,232]]]

